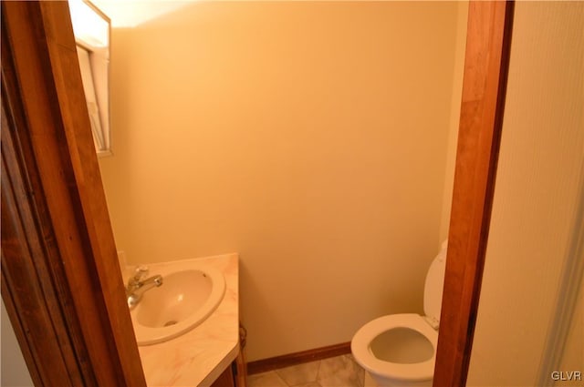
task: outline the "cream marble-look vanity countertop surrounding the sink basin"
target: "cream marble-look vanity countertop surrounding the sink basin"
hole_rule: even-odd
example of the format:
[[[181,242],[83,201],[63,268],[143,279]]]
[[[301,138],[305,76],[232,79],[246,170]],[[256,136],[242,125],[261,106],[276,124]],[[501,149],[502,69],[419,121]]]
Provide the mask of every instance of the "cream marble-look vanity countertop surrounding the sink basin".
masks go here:
[[[198,258],[225,277],[224,298],[201,325],[170,341],[139,346],[142,368],[149,387],[210,386],[235,361],[239,352],[238,255]],[[181,260],[188,264],[192,260]],[[150,272],[176,264],[148,264]]]

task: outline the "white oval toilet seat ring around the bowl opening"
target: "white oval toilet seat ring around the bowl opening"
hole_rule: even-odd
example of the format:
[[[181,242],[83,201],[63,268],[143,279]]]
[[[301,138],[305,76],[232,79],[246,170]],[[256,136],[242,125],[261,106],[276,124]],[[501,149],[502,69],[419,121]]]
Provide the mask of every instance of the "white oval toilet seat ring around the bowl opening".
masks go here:
[[[432,357],[425,362],[415,363],[386,362],[378,359],[370,351],[371,341],[381,333],[396,328],[410,329],[422,334],[433,345]],[[425,381],[433,379],[437,342],[438,332],[421,315],[403,313],[383,316],[363,325],[355,333],[350,346],[355,360],[369,372],[404,381]]]

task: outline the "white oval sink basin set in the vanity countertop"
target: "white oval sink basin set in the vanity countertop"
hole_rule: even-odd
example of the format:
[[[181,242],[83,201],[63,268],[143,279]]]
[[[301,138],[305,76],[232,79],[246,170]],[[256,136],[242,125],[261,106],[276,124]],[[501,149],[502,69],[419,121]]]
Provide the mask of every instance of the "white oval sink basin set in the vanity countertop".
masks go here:
[[[189,265],[159,269],[162,285],[144,292],[130,311],[138,345],[168,341],[201,324],[224,296],[225,279],[214,268]]]

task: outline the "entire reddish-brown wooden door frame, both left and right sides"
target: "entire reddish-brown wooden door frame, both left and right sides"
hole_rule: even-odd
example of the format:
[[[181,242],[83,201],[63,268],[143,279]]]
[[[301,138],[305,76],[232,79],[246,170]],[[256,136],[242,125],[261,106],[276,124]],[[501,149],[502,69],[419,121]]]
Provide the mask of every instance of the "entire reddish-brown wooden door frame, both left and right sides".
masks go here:
[[[468,371],[511,15],[469,5],[435,386]],[[2,168],[2,297],[33,381],[145,386],[67,2],[2,2]]]

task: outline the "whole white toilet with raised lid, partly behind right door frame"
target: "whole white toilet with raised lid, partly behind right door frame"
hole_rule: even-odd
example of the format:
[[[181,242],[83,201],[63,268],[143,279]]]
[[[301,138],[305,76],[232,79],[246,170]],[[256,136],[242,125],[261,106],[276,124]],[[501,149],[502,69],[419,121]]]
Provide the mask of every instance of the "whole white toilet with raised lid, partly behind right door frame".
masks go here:
[[[391,314],[363,325],[350,343],[355,361],[380,387],[432,386],[447,241],[426,274],[425,316]]]

